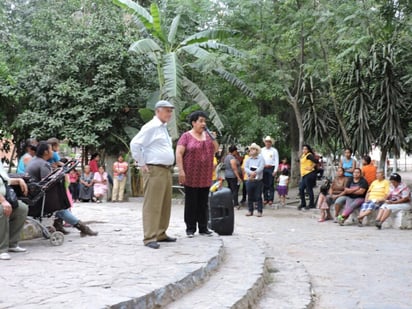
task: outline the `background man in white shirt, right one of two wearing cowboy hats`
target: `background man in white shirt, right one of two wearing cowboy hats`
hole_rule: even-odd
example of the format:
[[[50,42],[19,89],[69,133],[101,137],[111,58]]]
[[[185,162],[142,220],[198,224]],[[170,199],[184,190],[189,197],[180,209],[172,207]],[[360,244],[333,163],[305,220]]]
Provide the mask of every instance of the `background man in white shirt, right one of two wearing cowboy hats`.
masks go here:
[[[263,204],[273,204],[275,195],[275,175],[279,166],[279,153],[273,145],[273,139],[266,136],[263,139],[265,147],[262,148],[261,155],[265,160],[263,169]]]

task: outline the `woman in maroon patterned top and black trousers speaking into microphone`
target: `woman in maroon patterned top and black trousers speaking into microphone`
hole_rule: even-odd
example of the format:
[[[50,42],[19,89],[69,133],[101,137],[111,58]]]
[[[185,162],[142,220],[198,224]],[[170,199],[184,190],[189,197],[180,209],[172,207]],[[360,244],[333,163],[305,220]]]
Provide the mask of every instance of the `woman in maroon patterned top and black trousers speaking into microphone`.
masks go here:
[[[194,236],[196,228],[202,235],[212,234],[207,228],[208,197],[213,157],[219,144],[215,134],[208,133],[206,119],[202,111],[192,113],[189,117],[192,129],[182,134],[176,148],[179,183],[185,187],[184,217],[188,237]]]

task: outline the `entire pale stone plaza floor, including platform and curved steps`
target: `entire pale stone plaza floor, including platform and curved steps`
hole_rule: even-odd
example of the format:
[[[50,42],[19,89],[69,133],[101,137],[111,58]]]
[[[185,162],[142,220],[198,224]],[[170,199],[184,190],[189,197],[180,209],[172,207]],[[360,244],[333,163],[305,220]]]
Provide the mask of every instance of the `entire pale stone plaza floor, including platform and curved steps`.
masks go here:
[[[0,308],[411,307],[411,230],[318,223],[316,210],[296,210],[295,195],[262,218],[235,211],[233,236],[193,239],[175,200],[178,241],[159,250],[142,245],[141,198],[76,204],[99,236],[71,229],[62,246],[21,242],[27,253],[0,262]]]

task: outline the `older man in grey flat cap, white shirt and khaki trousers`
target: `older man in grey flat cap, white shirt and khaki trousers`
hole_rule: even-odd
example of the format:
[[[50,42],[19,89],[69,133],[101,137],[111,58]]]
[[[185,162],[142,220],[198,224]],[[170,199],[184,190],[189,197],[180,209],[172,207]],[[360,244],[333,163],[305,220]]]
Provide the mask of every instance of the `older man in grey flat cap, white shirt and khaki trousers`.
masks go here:
[[[175,242],[166,234],[172,206],[172,172],[175,161],[167,123],[174,106],[168,101],[155,105],[155,116],[130,142],[133,158],[143,173],[143,243],[158,249],[158,242]]]

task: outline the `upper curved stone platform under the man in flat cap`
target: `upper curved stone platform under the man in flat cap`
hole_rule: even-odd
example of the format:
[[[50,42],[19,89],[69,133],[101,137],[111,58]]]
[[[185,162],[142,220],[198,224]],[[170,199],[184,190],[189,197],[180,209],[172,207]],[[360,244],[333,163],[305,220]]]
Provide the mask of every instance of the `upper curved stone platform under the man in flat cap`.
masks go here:
[[[219,267],[222,239],[187,238],[179,205],[168,229],[177,242],[161,243],[159,250],[143,246],[141,207],[79,204],[73,213],[90,223],[97,237],[80,237],[68,228],[61,246],[22,241],[28,251],[12,254],[0,266],[0,308],[161,308]],[[47,293],[38,287],[47,287]]]

